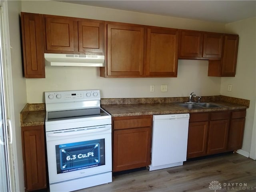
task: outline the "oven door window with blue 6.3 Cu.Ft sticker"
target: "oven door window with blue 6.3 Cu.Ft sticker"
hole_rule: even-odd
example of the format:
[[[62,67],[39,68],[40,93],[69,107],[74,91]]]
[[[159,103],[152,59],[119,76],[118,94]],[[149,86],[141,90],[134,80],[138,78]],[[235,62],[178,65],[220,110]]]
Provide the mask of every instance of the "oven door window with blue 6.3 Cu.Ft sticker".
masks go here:
[[[55,147],[57,174],[105,165],[105,139]]]

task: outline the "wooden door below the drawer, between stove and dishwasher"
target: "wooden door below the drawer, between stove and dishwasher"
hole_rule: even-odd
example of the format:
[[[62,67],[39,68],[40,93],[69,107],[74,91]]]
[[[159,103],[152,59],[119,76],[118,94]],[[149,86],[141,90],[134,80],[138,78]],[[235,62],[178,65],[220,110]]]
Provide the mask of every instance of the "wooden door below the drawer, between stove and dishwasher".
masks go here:
[[[114,130],[113,172],[150,164],[151,127]]]

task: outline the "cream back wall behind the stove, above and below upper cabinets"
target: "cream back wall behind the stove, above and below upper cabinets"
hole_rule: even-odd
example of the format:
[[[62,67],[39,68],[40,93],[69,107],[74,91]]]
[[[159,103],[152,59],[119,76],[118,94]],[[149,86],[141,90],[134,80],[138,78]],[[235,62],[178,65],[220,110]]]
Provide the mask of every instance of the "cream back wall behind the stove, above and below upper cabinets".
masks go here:
[[[225,30],[222,23],[54,1],[22,1],[22,11],[212,32]],[[102,98],[188,96],[190,92],[198,96],[219,95],[221,78],[208,77],[207,70],[208,61],[179,60],[178,78],[102,78],[99,68],[46,66],[45,79],[26,79],[27,100],[44,102],[44,91],[90,88],[100,89]],[[168,85],[167,93],[160,92],[161,84]],[[150,85],[156,86],[154,93],[150,93]]]

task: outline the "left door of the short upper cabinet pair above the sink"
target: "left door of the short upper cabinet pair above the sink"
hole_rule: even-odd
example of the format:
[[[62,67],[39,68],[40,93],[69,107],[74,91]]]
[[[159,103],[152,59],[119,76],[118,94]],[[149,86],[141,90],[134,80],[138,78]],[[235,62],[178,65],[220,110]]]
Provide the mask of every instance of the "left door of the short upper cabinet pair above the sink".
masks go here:
[[[179,58],[202,58],[202,33],[181,30]]]

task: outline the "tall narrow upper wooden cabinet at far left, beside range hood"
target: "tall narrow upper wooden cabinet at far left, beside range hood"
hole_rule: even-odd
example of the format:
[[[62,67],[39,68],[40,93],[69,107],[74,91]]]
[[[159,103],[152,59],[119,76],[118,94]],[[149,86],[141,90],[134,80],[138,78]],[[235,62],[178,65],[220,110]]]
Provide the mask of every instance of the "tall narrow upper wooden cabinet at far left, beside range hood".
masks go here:
[[[45,78],[42,14],[21,13],[24,76]]]

